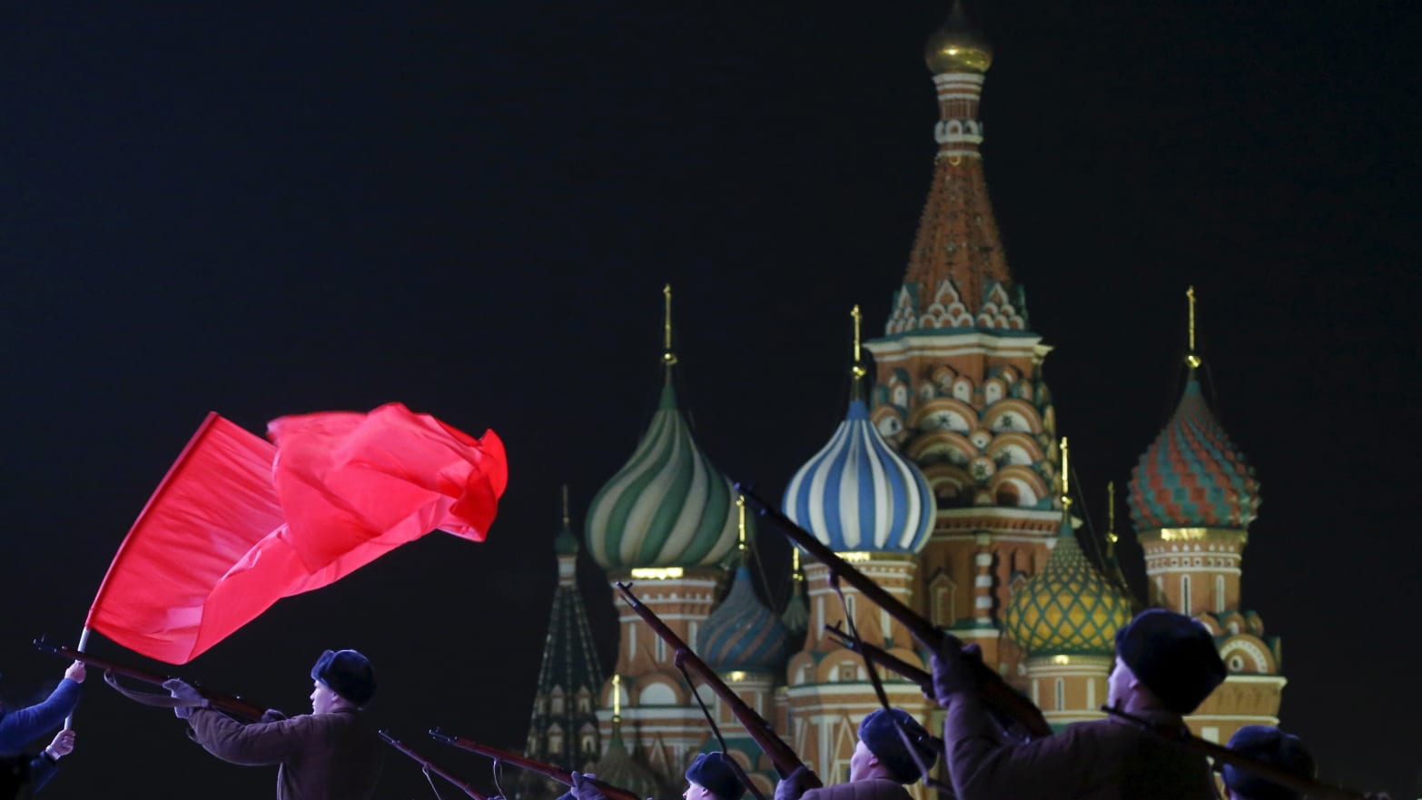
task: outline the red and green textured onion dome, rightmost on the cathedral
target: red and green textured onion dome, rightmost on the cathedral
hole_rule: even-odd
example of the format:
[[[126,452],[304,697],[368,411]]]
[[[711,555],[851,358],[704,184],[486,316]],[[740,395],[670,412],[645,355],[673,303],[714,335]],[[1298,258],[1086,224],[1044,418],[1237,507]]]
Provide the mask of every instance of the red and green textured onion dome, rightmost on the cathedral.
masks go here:
[[[1138,530],[1241,530],[1258,503],[1254,467],[1210,413],[1192,369],[1175,415],[1130,473],[1130,519]]]

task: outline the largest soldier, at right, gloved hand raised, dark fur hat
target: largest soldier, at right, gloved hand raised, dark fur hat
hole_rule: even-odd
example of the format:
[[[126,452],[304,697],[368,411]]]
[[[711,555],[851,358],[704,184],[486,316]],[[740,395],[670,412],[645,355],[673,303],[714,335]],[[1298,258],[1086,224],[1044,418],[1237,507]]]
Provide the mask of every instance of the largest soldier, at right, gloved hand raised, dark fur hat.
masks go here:
[[[933,686],[947,709],[943,739],[958,800],[1199,800],[1213,786],[1203,756],[1108,716],[1078,722],[1034,742],[1004,743],[977,693],[975,648],[946,637],[933,656]],[[1173,611],[1142,611],[1116,632],[1106,702],[1158,726],[1185,729],[1190,713],[1224,681],[1224,664],[1204,625]]]

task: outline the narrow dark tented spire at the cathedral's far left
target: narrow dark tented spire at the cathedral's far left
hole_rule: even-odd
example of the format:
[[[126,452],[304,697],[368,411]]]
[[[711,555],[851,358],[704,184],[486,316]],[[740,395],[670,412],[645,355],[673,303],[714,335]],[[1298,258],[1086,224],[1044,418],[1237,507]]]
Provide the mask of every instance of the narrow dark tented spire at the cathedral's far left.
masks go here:
[[[577,591],[579,547],[572,530],[567,486],[563,486],[563,527],[553,543],[557,588],[553,590],[525,753],[560,769],[580,770],[602,750],[594,705],[603,671]],[[538,794],[533,783],[526,789],[533,789],[532,794],[523,791],[522,796]]]

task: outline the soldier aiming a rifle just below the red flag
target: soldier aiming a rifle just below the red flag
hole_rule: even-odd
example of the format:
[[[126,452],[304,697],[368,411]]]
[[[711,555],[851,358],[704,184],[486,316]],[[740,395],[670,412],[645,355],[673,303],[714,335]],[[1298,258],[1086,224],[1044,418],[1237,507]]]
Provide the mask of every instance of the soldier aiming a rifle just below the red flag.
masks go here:
[[[375,672],[354,649],[326,651],[311,668],[311,713],[282,719],[267,712],[250,725],[202,708],[202,695],[182,681],[164,686],[198,703],[173,712],[209,753],[243,766],[279,764],[277,800],[368,800],[384,750],[360,709],[375,695]]]

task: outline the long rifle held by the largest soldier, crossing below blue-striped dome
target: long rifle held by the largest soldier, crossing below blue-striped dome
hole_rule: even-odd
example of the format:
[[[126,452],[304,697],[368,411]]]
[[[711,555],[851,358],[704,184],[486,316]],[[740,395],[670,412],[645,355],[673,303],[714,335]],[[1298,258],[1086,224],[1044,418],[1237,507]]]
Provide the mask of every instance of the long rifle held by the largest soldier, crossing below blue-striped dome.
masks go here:
[[[912,608],[904,605],[897,597],[884,591],[883,587],[876,584],[869,575],[860,573],[849,561],[840,558],[839,554],[826,547],[820,540],[815,539],[813,534],[795,524],[795,520],[771,507],[744,483],[737,483],[735,490],[745,497],[747,503],[755,504],[761,516],[768,517],[772,523],[775,523],[775,526],[779,527],[791,541],[798,544],[801,550],[809,553],[819,563],[829,567],[832,580],[843,580],[849,585],[859,590],[859,594],[865,595],[879,608],[883,608],[890,617],[897,620],[900,625],[909,628],[913,638],[919,639],[919,642],[930,652],[937,652],[939,648],[943,647],[947,634],[933,625],[933,622],[924,620]],[[1012,728],[1018,729],[1010,730],[1010,733],[1024,735],[1021,736],[1024,739],[1051,736],[1052,728],[1047,723],[1047,718],[1042,716],[1042,710],[1039,708],[1018,693],[1017,689],[1008,686],[1007,681],[1004,681],[1001,675],[988,669],[980,659],[970,658],[967,661],[971,665],[973,676],[977,679],[977,691],[983,698],[983,702],[987,703],[988,709],[994,712],[994,716],[997,716],[1000,722],[1008,722]]]

